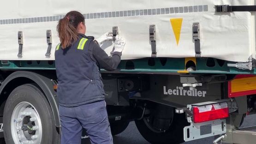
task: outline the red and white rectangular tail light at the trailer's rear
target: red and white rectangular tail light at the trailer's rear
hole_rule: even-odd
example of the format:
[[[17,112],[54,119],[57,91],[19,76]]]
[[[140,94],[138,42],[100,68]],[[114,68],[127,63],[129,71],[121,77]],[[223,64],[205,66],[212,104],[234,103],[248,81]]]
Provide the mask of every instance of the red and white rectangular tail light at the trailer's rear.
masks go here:
[[[227,118],[228,113],[227,103],[193,107],[194,123]]]

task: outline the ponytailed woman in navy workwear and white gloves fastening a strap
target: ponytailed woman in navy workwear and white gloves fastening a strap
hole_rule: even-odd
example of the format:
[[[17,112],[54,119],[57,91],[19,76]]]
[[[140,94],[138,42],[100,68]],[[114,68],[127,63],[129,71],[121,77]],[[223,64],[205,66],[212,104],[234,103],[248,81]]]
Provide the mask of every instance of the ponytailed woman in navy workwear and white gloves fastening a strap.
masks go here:
[[[91,144],[113,144],[99,69],[117,68],[125,40],[116,36],[113,56],[109,57],[97,43],[113,40],[112,33],[102,35],[97,43],[89,40],[84,19],[80,12],[71,11],[57,25],[60,44],[55,51],[55,67],[61,144],[80,144],[82,128]]]

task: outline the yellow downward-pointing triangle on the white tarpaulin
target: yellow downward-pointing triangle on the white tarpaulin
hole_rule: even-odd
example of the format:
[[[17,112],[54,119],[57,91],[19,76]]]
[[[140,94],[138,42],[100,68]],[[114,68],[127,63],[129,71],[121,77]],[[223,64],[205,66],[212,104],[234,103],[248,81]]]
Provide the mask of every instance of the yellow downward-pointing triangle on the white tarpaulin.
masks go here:
[[[170,21],[173,27],[173,33],[175,35],[177,46],[178,46],[183,18],[174,18],[174,19],[170,19]]]

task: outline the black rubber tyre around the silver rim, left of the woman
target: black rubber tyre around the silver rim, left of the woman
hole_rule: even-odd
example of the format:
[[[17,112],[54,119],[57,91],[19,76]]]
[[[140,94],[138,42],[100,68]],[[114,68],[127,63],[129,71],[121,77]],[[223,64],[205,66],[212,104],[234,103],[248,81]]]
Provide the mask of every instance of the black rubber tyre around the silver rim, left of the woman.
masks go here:
[[[59,134],[55,127],[51,107],[44,94],[35,84],[25,84],[15,88],[9,95],[5,109],[3,124],[6,144],[15,144],[12,138],[12,112],[21,102],[28,102],[36,109],[42,123],[42,141],[40,144],[59,144]]]

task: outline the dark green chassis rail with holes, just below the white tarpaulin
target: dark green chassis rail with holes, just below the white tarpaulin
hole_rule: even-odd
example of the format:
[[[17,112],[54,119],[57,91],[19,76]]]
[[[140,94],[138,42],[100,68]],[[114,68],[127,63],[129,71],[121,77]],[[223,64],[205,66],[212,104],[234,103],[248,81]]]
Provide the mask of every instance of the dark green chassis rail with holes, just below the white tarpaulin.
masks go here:
[[[116,72],[119,73],[159,73],[159,74],[256,74],[256,70],[229,67],[228,62],[216,58],[141,58],[122,60]],[[194,67],[193,71],[188,68]],[[0,69],[55,69],[53,60],[13,60],[1,61]],[[104,69],[101,69],[104,72]],[[114,73],[114,72],[113,72]]]

